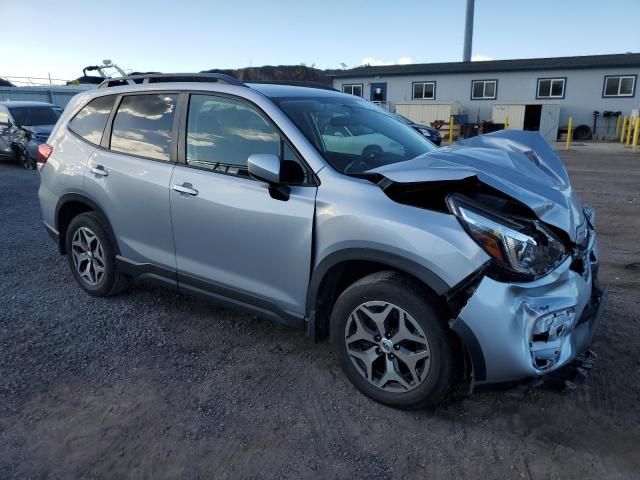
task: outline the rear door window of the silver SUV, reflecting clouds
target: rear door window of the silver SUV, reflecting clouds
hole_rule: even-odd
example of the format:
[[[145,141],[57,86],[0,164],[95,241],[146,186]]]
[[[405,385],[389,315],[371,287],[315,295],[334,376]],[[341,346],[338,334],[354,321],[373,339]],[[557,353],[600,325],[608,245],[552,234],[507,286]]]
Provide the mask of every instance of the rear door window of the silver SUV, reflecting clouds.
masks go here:
[[[111,150],[154,160],[170,160],[176,95],[130,95],[113,120]]]

